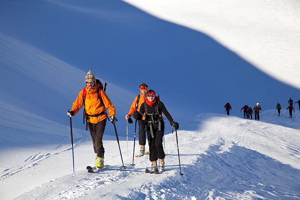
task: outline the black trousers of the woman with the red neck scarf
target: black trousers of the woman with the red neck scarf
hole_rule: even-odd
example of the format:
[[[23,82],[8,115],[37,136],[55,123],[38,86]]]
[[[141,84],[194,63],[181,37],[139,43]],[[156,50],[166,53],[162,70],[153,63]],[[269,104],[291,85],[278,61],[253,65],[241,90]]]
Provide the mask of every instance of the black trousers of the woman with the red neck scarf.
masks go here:
[[[147,135],[148,135],[148,143],[150,150],[150,161],[156,161],[159,159],[165,158],[165,152],[163,147],[163,137],[164,137],[165,127],[161,125],[161,130],[158,129],[153,130],[154,138],[151,136],[150,127],[147,126]]]

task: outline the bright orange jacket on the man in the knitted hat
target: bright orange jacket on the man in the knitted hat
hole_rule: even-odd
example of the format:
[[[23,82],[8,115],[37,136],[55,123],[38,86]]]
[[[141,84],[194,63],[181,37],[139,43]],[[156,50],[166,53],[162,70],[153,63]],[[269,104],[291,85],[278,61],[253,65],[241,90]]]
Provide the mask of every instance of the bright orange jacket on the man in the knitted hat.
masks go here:
[[[100,85],[97,83],[95,85],[94,88],[90,89],[88,87],[85,87],[83,90],[86,90],[86,97],[85,97],[85,111],[87,114],[89,115],[96,115],[99,114],[103,111],[105,111],[105,107],[107,108],[107,110],[110,113],[110,117],[111,116],[116,116],[116,109],[113,106],[113,103],[110,101],[110,99],[108,98],[107,94],[104,92],[104,90],[101,90],[101,96],[102,96],[102,100],[104,105],[100,102],[99,98],[98,98],[98,91],[97,88]],[[74,111],[74,115],[76,115],[78,113],[78,111],[80,110],[80,108],[82,108],[83,106],[83,101],[82,101],[82,94],[83,94],[83,90],[81,90],[77,96],[77,99],[74,101],[73,103],[73,107],[72,110]],[[88,116],[87,121],[91,122],[93,124],[96,124],[100,121],[102,121],[103,119],[107,118],[107,114],[105,113],[104,115],[100,115],[97,117],[91,117]]]

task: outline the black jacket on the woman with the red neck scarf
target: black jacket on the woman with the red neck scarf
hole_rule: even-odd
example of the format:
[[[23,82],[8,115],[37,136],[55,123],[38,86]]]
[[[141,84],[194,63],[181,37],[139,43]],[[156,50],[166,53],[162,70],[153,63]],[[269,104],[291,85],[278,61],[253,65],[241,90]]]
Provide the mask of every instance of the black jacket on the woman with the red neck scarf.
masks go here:
[[[170,122],[174,121],[172,116],[168,112],[167,108],[165,107],[164,103],[161,101],[156,100],[156,102],[152,106],[149,106],[146,102],[142,103],[142,105],[140,107],[140,112],[145,114],[146,113],[145,106],[146,106],[147,114],[157,113],[157,111],[156,111],[157,105],[158,105],[158,112],[160,114],[164,113],[164,115],[167,117],[167,119]],[[160,115],[158,115],[158,114],[155,114],[155,115],[153,115],[153,119],[154,119],[154,121],[162,120],[162,117],[160,117]],[[146,122],[147,127],[150,126],[150,123],[148,123],[148,121],[152,121],[151,115],[146,115],[146,117],[145,117],[145,122]],[[155,128],[155,129],[158,128],[158,121],[155,123],[152,123],[152,124],[153,124],[153,128]],[[164,124],[164,121],[162,121],[162,124]]]

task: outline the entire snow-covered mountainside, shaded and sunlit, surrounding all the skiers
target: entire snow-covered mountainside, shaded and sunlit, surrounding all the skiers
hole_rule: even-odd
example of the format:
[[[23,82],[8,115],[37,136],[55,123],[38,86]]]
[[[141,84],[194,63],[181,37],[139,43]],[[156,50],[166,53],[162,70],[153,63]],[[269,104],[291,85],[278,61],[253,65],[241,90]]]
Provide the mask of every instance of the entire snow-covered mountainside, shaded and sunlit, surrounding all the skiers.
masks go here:
[[[299,71],[294,63],[298,63],[299,54],[295,52],[299,49],[299,37],[298,26],[293,26],[299,19],[298,12],[293,12],[298,10],[298,2],[257,1],[249,5],[235,1],[225,5],[222,1],[186,1],[190,4],[177,1],[168,4],[168,8],[185,13],[179,17],[185,19],[184,26],[193,28],[186,22],[196,23],[199,16],[206,19],[207,24],[200,23],[205,34],[197,28],[191,30],[157,19],[123,1],[82,2],[1,1],[0,17],[5,20],[0,20],[0,199],[300,199],[300,112],[295,106],[293,118],[286,117],[285,113],[285,101],[289,97],[298,99],[299,90],[280,82],[296,83],[298,87]],[[163,2],[153,1],[152,5],[146,1],[126,2],[143,3],[143,9],[156,8],[164,16],[176,13],[163,7]],[[255,20],[251,21],[253,17],[244,12],[247,6],[253,10],[261,4],[266,11],[278,11],[280,16],[272,23],[275,28],[268,31],[278,31],[278,35],[292,32],[289,34],[292,43],[283,39],[280,42],[285,46],[273,49],[273,40],[268,37],[263,40],[266,37],[261,34],[268,36],[268,32],[263,26],[258,28]],[[286,6],[280,11],[278,4]],[[191,8],[200,9],[199,5],[202,12],[190,12]],[[208,9],[211,6],[214,9]],[[206,17],[205,10],[210,18]],[[223,10],[231,11],[232,15]],[[241,16],[241,20],[235,21],[236,16]],[[253,16],[257,21],[267,20],[265,15]],[[269,23],[274,20],[272,17],[268,18]],[[238,22],[246,19],[247,26],[240,26]],[[223,23],[226,20],[230,23]],[[289,20],[289,23],[278,20]],[[217,27],[222,31],[215,31]],[[263,46],[242,34],[251,27],[258,31],[257,38]],[[225,31],[232,29],[238,31]],[[276,35],[275,32],[270,35]],[[232,38],[238,42],[232,42]],[[249,46],[255,50],[251,51],[253,54]],[[262,54],[271,50],[275,54]],[[276,65],[275,75],[271,73],[274,79],[256,68],[270,73],[270,63],[287,63],[289,52],[287,66],[293,74],[283,65],[280,71]],[[264,56],[263,62],[257,59],[260,55]],[[109,67],[98,67],[99,63]],[[128,125],[127,142],[124,115],[137,92],[131,88],[145,80],[140,76],[128,81],[140,66],[158,66],[162,70],[163,81],[147,80],[164,96],[168,110],[180,122],[177,132],[184,175],[179,174],[176,134],[171,134],[170,127],[165,131],[166,172],[145,174],[145,169],[150,167],[148,157],[132,160],[134,125]],[[123,163],[115,132],[113,125],[107,123],[105,164],[110,166],[95,174],[86,172],[85,167],[93,165],[95,155],[82,116],[76,115],[72,117],[73,173],[70,119],[65,112],[82,90],[82,80],[91,67],[101,81],[107,78],[109,82],[107,93],[117,109],[116,126],[127,169],[120,169]],[[277,73],[283,78],[277,78]],[[248,74],[255,76],[245,81]],[[173,90],[165,87],[185,80],[192,80],[194,85],[179,84],[176,88],[185,91],[179,99]],[[243,93],[245,88],[249,93]],[[195,94],[201,94],[200,98]],[[190,99],[186,103],[192,109],[179,107],[180,98]],[[227,101],[232,102],[231,114],[235,116],[222,115]],[[257,101],[263,108],[261,121],[239,117],[239,106],[253,106]],[[277,101],[283,107],[281,116],[274,110]],[[137,153],[137,141],[135,147]],[[130,165],[133,162],[135,166]]]

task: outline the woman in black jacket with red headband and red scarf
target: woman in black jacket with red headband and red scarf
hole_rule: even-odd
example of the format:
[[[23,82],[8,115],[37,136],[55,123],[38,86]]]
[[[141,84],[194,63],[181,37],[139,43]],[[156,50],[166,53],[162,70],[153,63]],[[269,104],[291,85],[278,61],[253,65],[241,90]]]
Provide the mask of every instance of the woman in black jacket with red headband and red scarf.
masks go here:
[[[170,121],[171,126],[174,126],[176,130],[179,128],[179,124],[174,122],[163,102],[156,98],[154,90],[148,90],[146,97],[146,101],[140,107],[140,112],[134,112],[133,117],[135,119],[141,119],[143,116],[145,116],[145,124],[150,149],[149,160],[152,162],[151,168],[152,171],[163,171],[165,168],[165,152],[163,148],[165,123],[162,114],[164,113],[164,115]],[[159,169],[157,168],[158,159]]]

